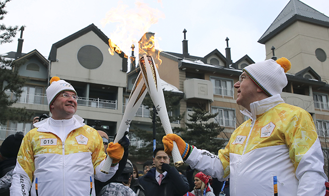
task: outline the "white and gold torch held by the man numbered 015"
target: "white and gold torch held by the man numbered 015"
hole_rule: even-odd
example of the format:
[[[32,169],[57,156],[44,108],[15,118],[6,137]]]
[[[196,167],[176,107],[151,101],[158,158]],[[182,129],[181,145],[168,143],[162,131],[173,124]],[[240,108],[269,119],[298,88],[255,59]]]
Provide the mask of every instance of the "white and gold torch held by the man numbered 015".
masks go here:
[[[129,127],[131,119],[134,118],[137,110],[140,108],[142,101],[144,100],[144,97],[147,93],[147,88],[142,77],[143,75],[140,72],[135,81],[133,90],[131,90],[128,103],[123,113],[122,121],[113,143],[117,143],[124,136],[124,133]],[[111,168],[112,161],[113,159],[107,156],[101,172],[108,173]]]

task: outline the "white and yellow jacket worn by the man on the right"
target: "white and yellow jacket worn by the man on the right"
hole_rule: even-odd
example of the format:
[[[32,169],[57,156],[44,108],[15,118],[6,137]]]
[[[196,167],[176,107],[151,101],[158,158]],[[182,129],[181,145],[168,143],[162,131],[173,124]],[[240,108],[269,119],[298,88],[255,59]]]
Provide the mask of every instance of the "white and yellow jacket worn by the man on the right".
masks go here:
[[[194,149],[186,162],[220,180],[230,195],[324,195],[323,154],[312,117],[280,94],[250,104],[250,119],[218,156]]]

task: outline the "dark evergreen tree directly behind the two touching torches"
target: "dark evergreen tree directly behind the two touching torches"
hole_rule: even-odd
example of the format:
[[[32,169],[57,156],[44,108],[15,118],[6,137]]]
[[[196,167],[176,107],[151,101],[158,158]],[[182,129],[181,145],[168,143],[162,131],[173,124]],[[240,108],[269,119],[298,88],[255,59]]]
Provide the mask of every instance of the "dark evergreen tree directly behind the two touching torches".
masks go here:
[[[176,109],[179,109],[179,101],[182,99],[179,95],[174,95],[170,91],[163,91],[164,97],[165,97],[165,103],[168,111],[175,111]],[[153,109],[154,105],[151,100],[151,97],[149,94],[145,96],[145,99],[143,101],[143,105],[147,106],[148,108]],[[152,110],[153,111],[153,110]],[[154,113],[151,111],[150,118],[153,119]],[[184,114],[179,116],[169,116],[169,121],[174,122],[177,120],[181,120],[181,118],[184,116]],[[162,127],[160,118],[158,115],[156,115],[155,118],[156,121],[156,146],[157,147],[163,147],[162,138],[165,136],[165,131]],[[134,125],[133,125],[134,126]],[[150,127],[153,129],[153,126]],[[173,128],[172,130],[174,133],[177,133],[179,131],[182,131],[181,128]],[[149,145],[139,148],[136,150],[135,146],[129,146],[129,154],[137,156],[138,158],[150,158],[153,156],[153,132],[146,131],[143,129],[137,129],[135,131],[135,135],[141,139],[144,140],[144,142],[150,142]]]

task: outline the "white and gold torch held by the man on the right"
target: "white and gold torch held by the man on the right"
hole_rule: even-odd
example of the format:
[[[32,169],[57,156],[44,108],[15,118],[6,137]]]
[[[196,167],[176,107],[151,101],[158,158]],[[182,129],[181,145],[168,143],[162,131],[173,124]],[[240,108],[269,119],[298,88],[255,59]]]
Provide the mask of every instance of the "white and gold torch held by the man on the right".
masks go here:
[[[152,102],[155,105],[156,111],[158,112],[165,133],[166,135],[170,134],[172,133],[172,129],[167,113],[158,69],[154,63],[153,57],[149,55],[143,55],[140,58],[140,67],[145,85],[149,91]],[[179,153],[176,142],[173,142],[173,144],[174,147],[171,154],[174,159],[175,166],[179,167],[180,165],[184,164],[184,162]]]

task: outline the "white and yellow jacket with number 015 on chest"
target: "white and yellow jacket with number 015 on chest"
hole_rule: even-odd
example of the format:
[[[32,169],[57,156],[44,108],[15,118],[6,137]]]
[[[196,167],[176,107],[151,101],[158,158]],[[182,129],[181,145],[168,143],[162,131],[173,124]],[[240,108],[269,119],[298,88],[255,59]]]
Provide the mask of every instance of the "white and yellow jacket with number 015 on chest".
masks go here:
[[[109,180],[117,170],[102,173],[106,154],[98,132],[77,115],[48,118],[34,124],[22,141],[10,195],[95,195],[94,178]],[[31,187],[32,186],[32,187]]]

